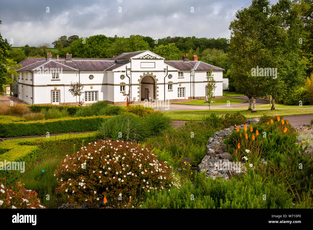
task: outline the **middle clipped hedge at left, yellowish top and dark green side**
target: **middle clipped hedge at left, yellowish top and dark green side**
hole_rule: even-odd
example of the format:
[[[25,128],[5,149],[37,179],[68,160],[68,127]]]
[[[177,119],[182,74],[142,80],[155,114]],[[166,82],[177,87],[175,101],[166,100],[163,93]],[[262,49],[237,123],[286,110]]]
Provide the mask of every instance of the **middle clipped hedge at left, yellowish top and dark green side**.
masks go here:
[[[97,130],[99,124],[110,116],[70,117],[37,121],[13,121],[8,116],[0,118],[0,137],[34,136],[57,133]],[[12,119],[14,119],[12,117]]]

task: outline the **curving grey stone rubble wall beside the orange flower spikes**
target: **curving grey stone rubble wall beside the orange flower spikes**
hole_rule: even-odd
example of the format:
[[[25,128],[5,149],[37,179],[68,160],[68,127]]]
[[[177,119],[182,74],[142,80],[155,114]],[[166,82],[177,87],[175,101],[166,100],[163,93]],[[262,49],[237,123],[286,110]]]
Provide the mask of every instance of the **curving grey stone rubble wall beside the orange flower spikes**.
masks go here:
[[[257,123],[260,118],[253,118],[247,120],[247,127],[251,123]],[[240,129],[244,129],[244,125],[239,125]],[[238,170],[228,170],[222,169],[223,164],[230,163],[230,154],[226,152],[226,145],[223,143],[224,139],[231,135],[232,131],[236,130],[236,125],[215,132],[213,137],[210,137],[206,147],[206,156],[203,157],[201,163],[199,164],[199,172],[205,171],[207,177],[212,177],[213,179],[218,177],[223,177],[224,179],[230,179],[231,175],[242,175],[244,171]]]

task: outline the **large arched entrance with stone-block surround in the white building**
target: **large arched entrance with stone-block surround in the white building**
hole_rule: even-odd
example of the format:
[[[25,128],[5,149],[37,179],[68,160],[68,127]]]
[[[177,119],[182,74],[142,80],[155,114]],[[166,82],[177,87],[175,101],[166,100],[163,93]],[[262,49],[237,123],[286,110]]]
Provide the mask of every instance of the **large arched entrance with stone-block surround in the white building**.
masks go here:
[[[158,86],[156,75],[153,73],[144,73],[140,76],[138,93],[140,100],[157,100],[158,99]]]

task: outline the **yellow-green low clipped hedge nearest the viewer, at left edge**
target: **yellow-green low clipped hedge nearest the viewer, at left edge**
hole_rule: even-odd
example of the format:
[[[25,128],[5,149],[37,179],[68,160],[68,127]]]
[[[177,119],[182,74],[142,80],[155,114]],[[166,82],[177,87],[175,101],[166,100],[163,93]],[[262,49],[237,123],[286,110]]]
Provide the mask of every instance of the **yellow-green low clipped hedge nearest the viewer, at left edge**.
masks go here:
[[[0,142],[0,162],[4,164],[6,161],[13,162],[19,161],[26,163],[28,161],[36,160],[43,148],[46,148],[49,143],[57,142],[62,143],[64,141],[71,141],[74,139],[80,139],[85,141],[94,141],[96,139],[96,133],[80,133],[80,134],[64,134],[59,136],[36,137],[36,138],[23,138],[14,139]],[[21,176],[20,171],[15,170],[0,170],[0,178],[6,178],[8,182],[17,180]]]

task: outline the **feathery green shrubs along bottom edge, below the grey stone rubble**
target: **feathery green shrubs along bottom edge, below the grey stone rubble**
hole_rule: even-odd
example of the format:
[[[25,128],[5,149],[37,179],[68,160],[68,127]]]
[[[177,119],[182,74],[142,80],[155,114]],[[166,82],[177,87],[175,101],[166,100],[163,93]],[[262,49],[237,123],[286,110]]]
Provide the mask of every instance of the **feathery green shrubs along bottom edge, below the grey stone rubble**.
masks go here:
[[[258,176],[213,180],[201,173],[194,184],[188,180],[180,189],[148,193],[142,208],[290,208],[291,203],[284,184],[264,183]]]

